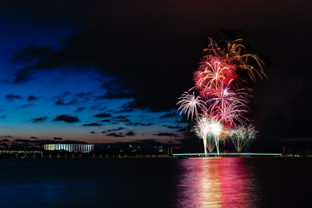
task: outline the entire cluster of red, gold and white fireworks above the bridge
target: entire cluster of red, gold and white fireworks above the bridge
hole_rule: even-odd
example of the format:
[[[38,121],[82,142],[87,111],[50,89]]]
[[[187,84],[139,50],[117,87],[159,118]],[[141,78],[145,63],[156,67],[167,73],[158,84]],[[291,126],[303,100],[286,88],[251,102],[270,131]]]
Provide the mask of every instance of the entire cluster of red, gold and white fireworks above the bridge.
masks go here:
[[[245,54],[241,41],[216,43],[210,39],[204,49],[206,55],[194,72],[194,87],[189,90],[193,94],[185,92],[177,102],[178,110],[188,119],[193,121],[195,116],[192,131],[203,140],[205,154],[215,147],[219,154],[219,140],[225,142],[227,138],[241,152],[257,133],[246,118],[251,97],[248,85],[256,80],[256,75],[261,79],[266,75],[263,62],[256,55]]]

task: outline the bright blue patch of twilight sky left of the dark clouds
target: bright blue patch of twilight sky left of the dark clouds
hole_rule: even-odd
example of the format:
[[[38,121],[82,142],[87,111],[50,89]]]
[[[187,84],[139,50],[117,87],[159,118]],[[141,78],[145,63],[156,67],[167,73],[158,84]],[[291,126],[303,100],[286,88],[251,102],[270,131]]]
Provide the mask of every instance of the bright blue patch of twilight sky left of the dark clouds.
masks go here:
[[[176,123],[181,117],[175,109],[159,112],[125,109],[124,106],[134,98],[103,98],[108,89],[102,85],[110,84],[118,77],[105,75],[92,66],[82,66],[83,69],[68,66],[34,70],[29,73],[28,80],[15,82],[18,71],[35,65],[40,59],[27,59],[25,55],[25,59],[14,60],[20,51],[41,47],[60,50],[63,47],[60,42],[70,39],[79,29],[60,22],[7,17],[0,18],[0,25],[4,31],[0,36],[0,131],[3,137],[14,137],[11,141],[31,137],[53,140],[57,137],[88,143],[142,139],[178,143],[172,136],[155,136],[168,133],[174,134],[174,138],[180,137],[177,130],[187,124]],[[173,116],[160,118],[170,113]],[[110,116],[94,117],[96,114]],[[78,121],[54,121],[60,115],[77,117]],[[37,121],[38,118],[41,119]],[[127,134],[129,132],[132,133]],[[107,136],[109,134],[111,136]]]

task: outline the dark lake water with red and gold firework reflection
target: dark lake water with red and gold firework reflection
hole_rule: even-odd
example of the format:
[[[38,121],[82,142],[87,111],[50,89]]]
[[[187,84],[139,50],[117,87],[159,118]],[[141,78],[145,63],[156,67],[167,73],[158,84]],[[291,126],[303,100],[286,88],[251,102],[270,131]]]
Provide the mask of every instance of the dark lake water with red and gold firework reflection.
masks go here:
[[[2,159],[0,207],[312,207],[312,158]]]

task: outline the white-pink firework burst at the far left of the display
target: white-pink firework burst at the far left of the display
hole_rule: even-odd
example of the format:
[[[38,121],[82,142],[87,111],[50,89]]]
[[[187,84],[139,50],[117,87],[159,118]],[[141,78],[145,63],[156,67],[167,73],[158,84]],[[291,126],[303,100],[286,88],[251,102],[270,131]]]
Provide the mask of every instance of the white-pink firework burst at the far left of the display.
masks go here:
[[[176,103],[176,105],[180,104],[180,108],[178,110],[181,109],[181,113],[184,114],[188,114],[188,119],[190,114],[192,114],[191,116],[191,120],[193,121],[193,115],[195,113],[196,118],[198,118],[198,113],[197,113],[197,107],[199,107],[202,111],[206,111],[206,107],[205,107],[205,102],[200,100],[200,97],[197,96],[195,97],[194,92],[193,95],[191,95],[188,92],[185,92],[180,98],[180,101],[178,101]],[[180,113],[180,115],[181,115]]]

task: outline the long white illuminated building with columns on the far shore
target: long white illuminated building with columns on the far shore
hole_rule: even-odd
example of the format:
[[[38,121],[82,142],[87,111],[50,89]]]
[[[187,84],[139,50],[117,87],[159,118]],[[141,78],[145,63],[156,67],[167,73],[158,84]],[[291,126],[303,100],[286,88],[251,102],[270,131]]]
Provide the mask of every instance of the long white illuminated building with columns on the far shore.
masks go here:
[[[45,144],[44,150],[92,151],[94,144]]]

